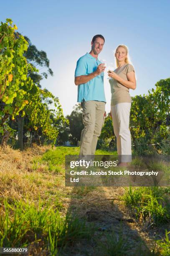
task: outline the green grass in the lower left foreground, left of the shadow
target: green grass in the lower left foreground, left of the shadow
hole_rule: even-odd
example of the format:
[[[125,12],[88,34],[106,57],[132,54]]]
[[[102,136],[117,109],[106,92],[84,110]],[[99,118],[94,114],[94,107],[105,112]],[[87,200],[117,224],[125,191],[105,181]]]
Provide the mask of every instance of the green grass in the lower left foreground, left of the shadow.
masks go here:
[[[57,204],[57,202],[56,202]],[[89,239],[94,234],[93,227],[87,227],[83,219],[67,212],[63,218],[55,204],[44,205],[39,201],[28,203],[19,201],[9,204],[4,201],[5,212],[0,217],[0,246],[22,247],[31,242],[44,241],[45,248],[55,255],[58,248]]]

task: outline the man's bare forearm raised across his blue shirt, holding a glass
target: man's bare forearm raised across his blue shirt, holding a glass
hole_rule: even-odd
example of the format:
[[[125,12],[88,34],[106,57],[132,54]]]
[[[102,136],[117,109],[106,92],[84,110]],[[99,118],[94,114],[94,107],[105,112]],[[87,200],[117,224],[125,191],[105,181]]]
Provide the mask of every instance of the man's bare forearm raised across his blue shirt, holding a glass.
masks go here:
[[[74,82],[76,85],[79,84],[85,84],[87,82],[89,82],[91,79],[93,79],[94,77],[98,76],[101,72],[104,71],[106,67],[104,66],[104,64],[100,64],[96,71],[92,72],[91,74],[88,75],[83,75],[83,76],[79,76],[79,77],[75,77]]]

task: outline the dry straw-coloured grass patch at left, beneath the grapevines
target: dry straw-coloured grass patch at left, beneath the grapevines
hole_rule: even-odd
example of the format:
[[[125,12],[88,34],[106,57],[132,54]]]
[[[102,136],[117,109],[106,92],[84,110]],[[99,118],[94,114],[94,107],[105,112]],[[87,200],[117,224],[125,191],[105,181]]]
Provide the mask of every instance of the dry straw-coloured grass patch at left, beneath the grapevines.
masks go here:
[[[46,165],[33,170],[33,159],[51,149],[51,146],[34,146],[23,152],[14,150],[9,145],[0,147],[0,198],[16,200],[32,198],[39,195],[46,197],[46,191],[56,187],[60,182],[56,176],[44,174]]]

